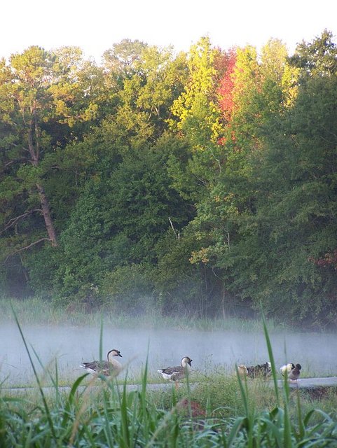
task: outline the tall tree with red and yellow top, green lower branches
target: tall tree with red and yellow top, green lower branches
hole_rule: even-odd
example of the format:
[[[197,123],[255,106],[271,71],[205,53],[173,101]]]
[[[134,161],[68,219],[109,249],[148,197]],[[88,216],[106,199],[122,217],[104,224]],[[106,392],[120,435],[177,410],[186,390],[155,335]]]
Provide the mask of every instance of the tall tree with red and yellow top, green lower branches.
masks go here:
[[[296,78],[293,83],[289,81],[287,52],[279,41],[270,41],[260,60],[256,50],[247,47],[237,49],[228,62],[218,89],[226,120],[221,139],[223,166],[209,195],[198,203],[198,215],[190,225],[202,240],[202,247],[193,251],[191,261],[219,269],[223,290],[238,294],[241,288],[245,290],[245,282],[252,282],[250,275],[259,272],[257,266],[255,272],[253,269],[259,252],[253,237],[245,244],[247,235],[256,235],[252,223],[260,186],[254,172],[255,160],[263,160],[270,120],[280,119],[289,108]],[[296,69],[293,72],[295,75]],[[245,297],[251,297],[249,293],[245,290]]]

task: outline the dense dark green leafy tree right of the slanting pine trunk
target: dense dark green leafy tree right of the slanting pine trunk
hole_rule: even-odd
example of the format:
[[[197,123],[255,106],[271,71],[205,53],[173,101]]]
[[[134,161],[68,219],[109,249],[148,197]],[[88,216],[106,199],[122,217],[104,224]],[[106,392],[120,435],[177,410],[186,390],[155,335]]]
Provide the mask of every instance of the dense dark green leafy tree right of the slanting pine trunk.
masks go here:
[[[170,140],[155,148],[123,154],[111,172],[87,182],[62,232],[57,282],[64,293],[79,293],[118,266],[156,263],[156,243],[174,225],[188,220],[188,204],[172,188],[166,161]],[[149,286],[151,291],[151,286]],[[81,293],[82,294],[82,293]],[[105,293],[104,293],[105,294]]]

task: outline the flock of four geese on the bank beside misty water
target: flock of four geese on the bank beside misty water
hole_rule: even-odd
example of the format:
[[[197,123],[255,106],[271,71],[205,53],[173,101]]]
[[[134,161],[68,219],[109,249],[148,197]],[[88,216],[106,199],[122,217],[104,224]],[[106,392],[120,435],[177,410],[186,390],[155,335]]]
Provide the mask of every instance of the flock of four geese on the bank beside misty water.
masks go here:
[[[104,374],[106,377],[116,376],[123,369],[121,363],[116,359],[118,357],[122,358],[121,351],[112,349],[108,351],[106,361],[101,360],[82,363],[80,367],[92,374]],[[157,372],[161,374],[164,379],[174,381],[177,387],[178,381],[186,377],[186,372],[191,367],[191,363],[192,359],[189,356],[184,356],[184,358],[181,359],[180,365],[165,367],[164,369],[157,370]],[[290,381],[297,381],[301,374],[301,368],[301,364],[288,363],[280,367],[280,372],[283,377],[286,376]],[[269,361],[264,364],[251,365],[248,367],[243,364],[238,366],[238,374],[240,377],[259,377],[266,379],[270,377],[271,372],[271,364]]]

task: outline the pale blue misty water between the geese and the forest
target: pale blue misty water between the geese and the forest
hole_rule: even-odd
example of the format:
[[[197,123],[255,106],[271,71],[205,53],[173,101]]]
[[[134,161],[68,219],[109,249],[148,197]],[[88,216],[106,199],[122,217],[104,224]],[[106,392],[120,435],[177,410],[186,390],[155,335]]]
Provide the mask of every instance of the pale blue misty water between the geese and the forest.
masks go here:
[[[99,328],[69,326],[25,326],[22,331],[34,358],[43,365],[55,364],[60,377],[78,377],[84,371],[78,366],[83,361],[99,359]],[[277,367],[286,362],[301,363],[305,372],[315,376],[337,375],[337,334],[314,332],[270,333],[270,341]],[[169,365],[179,365],[183,356],[193,358],[193,370],[206,372],[222,365],[234,370],[235,363],[252,365],[268,360],[266,340],[261,332],[116,329],[104,327],[103,358],[107,351],[118,349],[129,364],[128,376],[139,374],[149,347],[149,372]],[[38,369],[41,372],[41,368]],[[0,327],[0,380],[18,385],[33,381],[22,337],[16,325]],[[159,377],[158,377],[159,379]]]

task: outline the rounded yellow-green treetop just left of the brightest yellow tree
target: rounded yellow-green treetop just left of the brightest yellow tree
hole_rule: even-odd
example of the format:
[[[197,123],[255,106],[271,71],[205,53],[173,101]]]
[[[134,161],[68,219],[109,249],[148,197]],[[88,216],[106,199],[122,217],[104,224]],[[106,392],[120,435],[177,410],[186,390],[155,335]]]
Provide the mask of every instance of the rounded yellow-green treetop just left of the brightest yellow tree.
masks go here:
[[[104,139],[109,135],[121,151],[153,143],[167,129],[170,106],[183,89],[184,53],[176,56],[172,48],[123,40],[104,58],[114,92],[114,108],[102,123]]]

